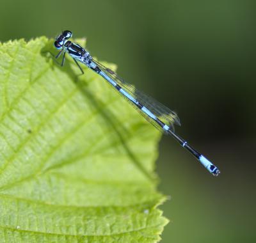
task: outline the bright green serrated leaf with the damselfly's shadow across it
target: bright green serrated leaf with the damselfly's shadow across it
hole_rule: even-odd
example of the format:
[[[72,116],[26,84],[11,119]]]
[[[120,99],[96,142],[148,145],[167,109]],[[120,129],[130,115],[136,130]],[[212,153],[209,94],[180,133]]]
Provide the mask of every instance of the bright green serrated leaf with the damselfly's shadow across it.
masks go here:
[[[159,241],[159,132],[52,43],[0,43],[0,242]]]

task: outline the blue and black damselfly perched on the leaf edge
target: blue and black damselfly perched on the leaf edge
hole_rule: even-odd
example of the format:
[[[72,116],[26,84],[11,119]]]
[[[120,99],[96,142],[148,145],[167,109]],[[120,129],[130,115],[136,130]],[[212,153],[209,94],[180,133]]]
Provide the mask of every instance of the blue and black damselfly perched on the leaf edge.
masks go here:
[[[157,102],[153,98],[138,91],[134,86],[128,84],[123,79],[118,77],[112,70],[104,67],[101,63],[92,58],[90,53],[77,43],[71,42],[71,31],[63,31],[55,40],[54,46],[60,50],[56,58],[59,58],[63,53],[61,66],[64,65],[65,54],[68,53],[76,62],[82,73],[83,69],[79,66],[79,62],[92,69],[94,72],[102,76],[113,88],[115,88],[122,97],[125,98],[133,107],[135,107],[141,115],[143,115],[150,123],[165,134],[171,135],[176,141],[180,143],[183,148],[186,148],[189,153],[194,155],[198,161],[214,176],[220,174],[220,170],[214,166],[201,153],[198,153],[192,148],[184,139],[178,136],[173,129],[173,124],[180,125],[177,114],[168,109],[163,104]]]

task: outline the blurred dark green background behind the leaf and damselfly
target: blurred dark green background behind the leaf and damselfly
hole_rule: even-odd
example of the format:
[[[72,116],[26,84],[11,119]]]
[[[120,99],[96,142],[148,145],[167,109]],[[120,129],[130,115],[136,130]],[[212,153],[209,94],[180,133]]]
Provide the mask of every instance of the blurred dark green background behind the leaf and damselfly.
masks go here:
[[[70,29],[177,111],[177,133],[221,175],[163,137],[159,189],[172,200],[162,242],[256,242],[255,23],[254,0],[1,0],[0,40]]]

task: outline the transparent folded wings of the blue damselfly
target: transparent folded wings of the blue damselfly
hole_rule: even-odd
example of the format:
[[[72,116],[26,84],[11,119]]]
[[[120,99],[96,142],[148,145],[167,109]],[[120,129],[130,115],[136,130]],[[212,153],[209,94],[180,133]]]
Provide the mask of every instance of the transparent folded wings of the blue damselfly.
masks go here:
[[[142,91],[139,91],[136,89],[132,84],[129,84],[124,81],[121,77],[119,77],[113,70],[110,68],[105,67],[95,59],[93,61],[99,66],[101,70],[106,72],[109,77],[111,77],[118,85],[122,87],[123,90],[127,91],[132,97],[136,98],[138,102],[140,102],[143,106],[147,107],[148,110],[150,110],[159,120],[163,121],[167,125],[170,125],[173,129],[173,124],[180,125],[180,120],[177,114],[170,110],[168,107],[164,106],[154,98],[150,97],[149,95],[143,93]],[[133,106],[134,104],[126,98],[126,100],[131,103]],[[136,106],[134,106],[136,107]],[[137,108],[137,107],[136,107]],[[138,109],[138,108],[137,108]],[[159,125],[152,122],[150,118],[148,118],[147,114],[143,113],[140,109],[138,111],[148,120],[150,123],[152,123],[157,129],[162,130],[159,128]]]

